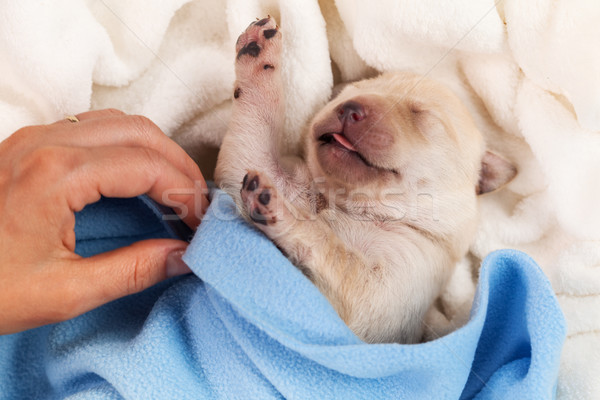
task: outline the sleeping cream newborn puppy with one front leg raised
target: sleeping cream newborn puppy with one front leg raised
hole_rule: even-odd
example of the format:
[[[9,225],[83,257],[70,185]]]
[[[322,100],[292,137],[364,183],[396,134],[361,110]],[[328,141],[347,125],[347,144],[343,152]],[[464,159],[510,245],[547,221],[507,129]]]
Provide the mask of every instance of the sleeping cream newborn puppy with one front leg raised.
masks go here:
[[[347,86],[314,117],[303,158],[282,158],[275,21],[252,23],[236,50],[217,183],[361,339],[419,342],[473,239],[477,194],[515,169],[448,89],[404,72]]]

